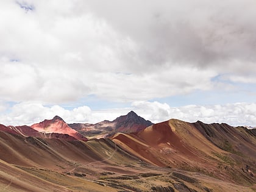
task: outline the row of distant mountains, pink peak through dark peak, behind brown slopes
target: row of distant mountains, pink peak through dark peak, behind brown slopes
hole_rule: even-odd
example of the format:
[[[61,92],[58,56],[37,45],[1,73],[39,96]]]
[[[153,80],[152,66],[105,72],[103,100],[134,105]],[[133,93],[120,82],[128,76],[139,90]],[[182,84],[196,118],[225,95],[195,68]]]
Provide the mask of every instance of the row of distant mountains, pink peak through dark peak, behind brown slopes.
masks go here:
[[[146,121],[131,111],[127,115],[119,116],[113,121],[102,121],[96,124],[72,123],[67,124],[60,116],[52,119],[45,119],[32,126],[0,126],[0,130],[24,137],[40,138],[62,138],[66,140],[88,141],[87,137],[104,138],[116,132],[132,133],[139,132],[151,126],[151,121]],[[54,134],[53,134],[54,133]],[[63,134],[63,135],[61,135]],[[69,137],[68,137],[69,135]]]

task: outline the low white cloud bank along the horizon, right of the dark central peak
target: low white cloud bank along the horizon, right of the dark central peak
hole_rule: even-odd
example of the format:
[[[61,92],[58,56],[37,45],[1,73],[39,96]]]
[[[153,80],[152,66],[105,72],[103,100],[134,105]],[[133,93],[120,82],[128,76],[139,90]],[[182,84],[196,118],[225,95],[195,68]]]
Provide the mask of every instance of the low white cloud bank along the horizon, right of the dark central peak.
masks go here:
[[[176,118],[188,122],[199,120],[204,123],[227,123],[232,126],[256,125],[255,103],[170,107],[166,103],[140,101],[133,102],[132,107],[154,123]]]

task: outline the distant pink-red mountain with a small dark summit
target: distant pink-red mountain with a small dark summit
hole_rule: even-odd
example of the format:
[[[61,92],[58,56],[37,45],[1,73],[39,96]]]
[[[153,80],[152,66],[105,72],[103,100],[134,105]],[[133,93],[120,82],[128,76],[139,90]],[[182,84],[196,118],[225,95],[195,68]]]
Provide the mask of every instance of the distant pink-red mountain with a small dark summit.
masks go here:
[[[84,137],[71,127],[69,127],[68,124],[66,124],[65,121],[59,116],[54,116],[53,119],[45,119],[40,123],[33,124],[31,127],[37,130],[38,132],[62,133],[70,135],[71,137],[74,137],[77,140],[88,141],[86,137]]]

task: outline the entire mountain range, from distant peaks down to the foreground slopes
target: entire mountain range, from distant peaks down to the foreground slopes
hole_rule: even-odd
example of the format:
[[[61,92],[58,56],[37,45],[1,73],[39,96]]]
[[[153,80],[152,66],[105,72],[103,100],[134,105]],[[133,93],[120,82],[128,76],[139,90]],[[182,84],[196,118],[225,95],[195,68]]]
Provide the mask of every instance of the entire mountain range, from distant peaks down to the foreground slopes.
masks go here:
[[[135,112],[0,124],[0,191],[255,191],[256,129]]]

